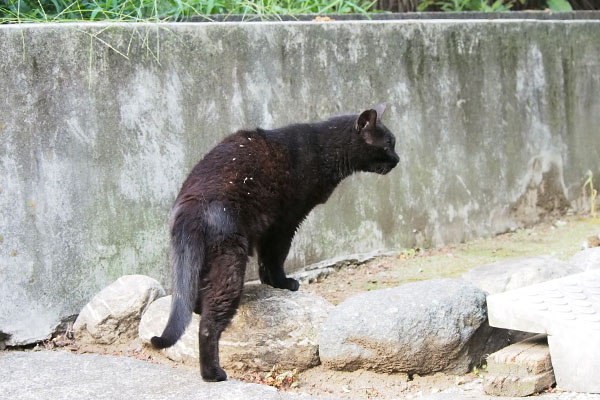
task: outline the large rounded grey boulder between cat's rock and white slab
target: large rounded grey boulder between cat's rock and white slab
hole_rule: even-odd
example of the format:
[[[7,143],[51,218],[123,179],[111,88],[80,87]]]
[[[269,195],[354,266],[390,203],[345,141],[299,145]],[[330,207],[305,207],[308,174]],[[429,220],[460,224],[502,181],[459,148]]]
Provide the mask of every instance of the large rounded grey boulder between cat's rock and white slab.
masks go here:
[[[347,299],[327,319],[319,354],[333,369],[465,373],[506,344],[494,345],[491,336],[485,293],[464,280],[439,279]]]

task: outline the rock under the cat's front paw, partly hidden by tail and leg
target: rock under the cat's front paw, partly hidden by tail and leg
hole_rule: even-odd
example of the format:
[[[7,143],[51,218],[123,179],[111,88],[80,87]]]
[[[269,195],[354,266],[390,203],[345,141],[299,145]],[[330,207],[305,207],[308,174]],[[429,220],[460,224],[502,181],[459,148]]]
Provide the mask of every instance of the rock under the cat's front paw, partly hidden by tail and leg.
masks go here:
[[[152,303],[142,317],[140,337],[149,342],[168,319],[171,297]],[[241,305],[221,336],[220,361],[225,369],[268,371],[305,370],[319,364],[318,337],[333,305],[303,292],[247,285]],[[194,314],[183,337],[162,350],[175,361],[198,363],[198,327]]]

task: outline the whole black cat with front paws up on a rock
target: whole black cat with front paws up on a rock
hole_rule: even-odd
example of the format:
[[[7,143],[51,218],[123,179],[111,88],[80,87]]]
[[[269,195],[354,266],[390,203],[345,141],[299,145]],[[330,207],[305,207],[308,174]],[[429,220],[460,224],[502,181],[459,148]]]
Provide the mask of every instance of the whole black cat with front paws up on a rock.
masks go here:
[[[276,288],[298,290],[283,263],[304,218],[356,171],[387,174],[398,164],[394,135],[381,104],[360,115],[239,131],[198,163],[171,213],[173,301],[156,348],[172,346],[190,322],[200,322],[200,372],[227,379],[219,338],[240,302],[248,256],[258,251],[259,275]]]

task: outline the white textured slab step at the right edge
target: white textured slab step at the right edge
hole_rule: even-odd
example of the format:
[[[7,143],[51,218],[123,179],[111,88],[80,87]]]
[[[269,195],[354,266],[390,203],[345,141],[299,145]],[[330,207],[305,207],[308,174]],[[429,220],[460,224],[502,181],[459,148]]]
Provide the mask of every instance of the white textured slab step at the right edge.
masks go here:
[[[491,326],[547,333],[561,389],[600,393],[600,270],[490,295]]]

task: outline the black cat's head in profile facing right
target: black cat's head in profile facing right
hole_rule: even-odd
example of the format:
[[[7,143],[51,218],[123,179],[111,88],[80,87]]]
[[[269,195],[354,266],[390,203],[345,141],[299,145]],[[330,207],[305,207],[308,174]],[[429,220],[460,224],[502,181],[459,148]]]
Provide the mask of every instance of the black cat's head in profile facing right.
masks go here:
[[[396,138],[381,122],[385,103],[363,111],[356,119],[355,132],[359,135],[359,170],[385,175],[400,161],[394,150]]]

